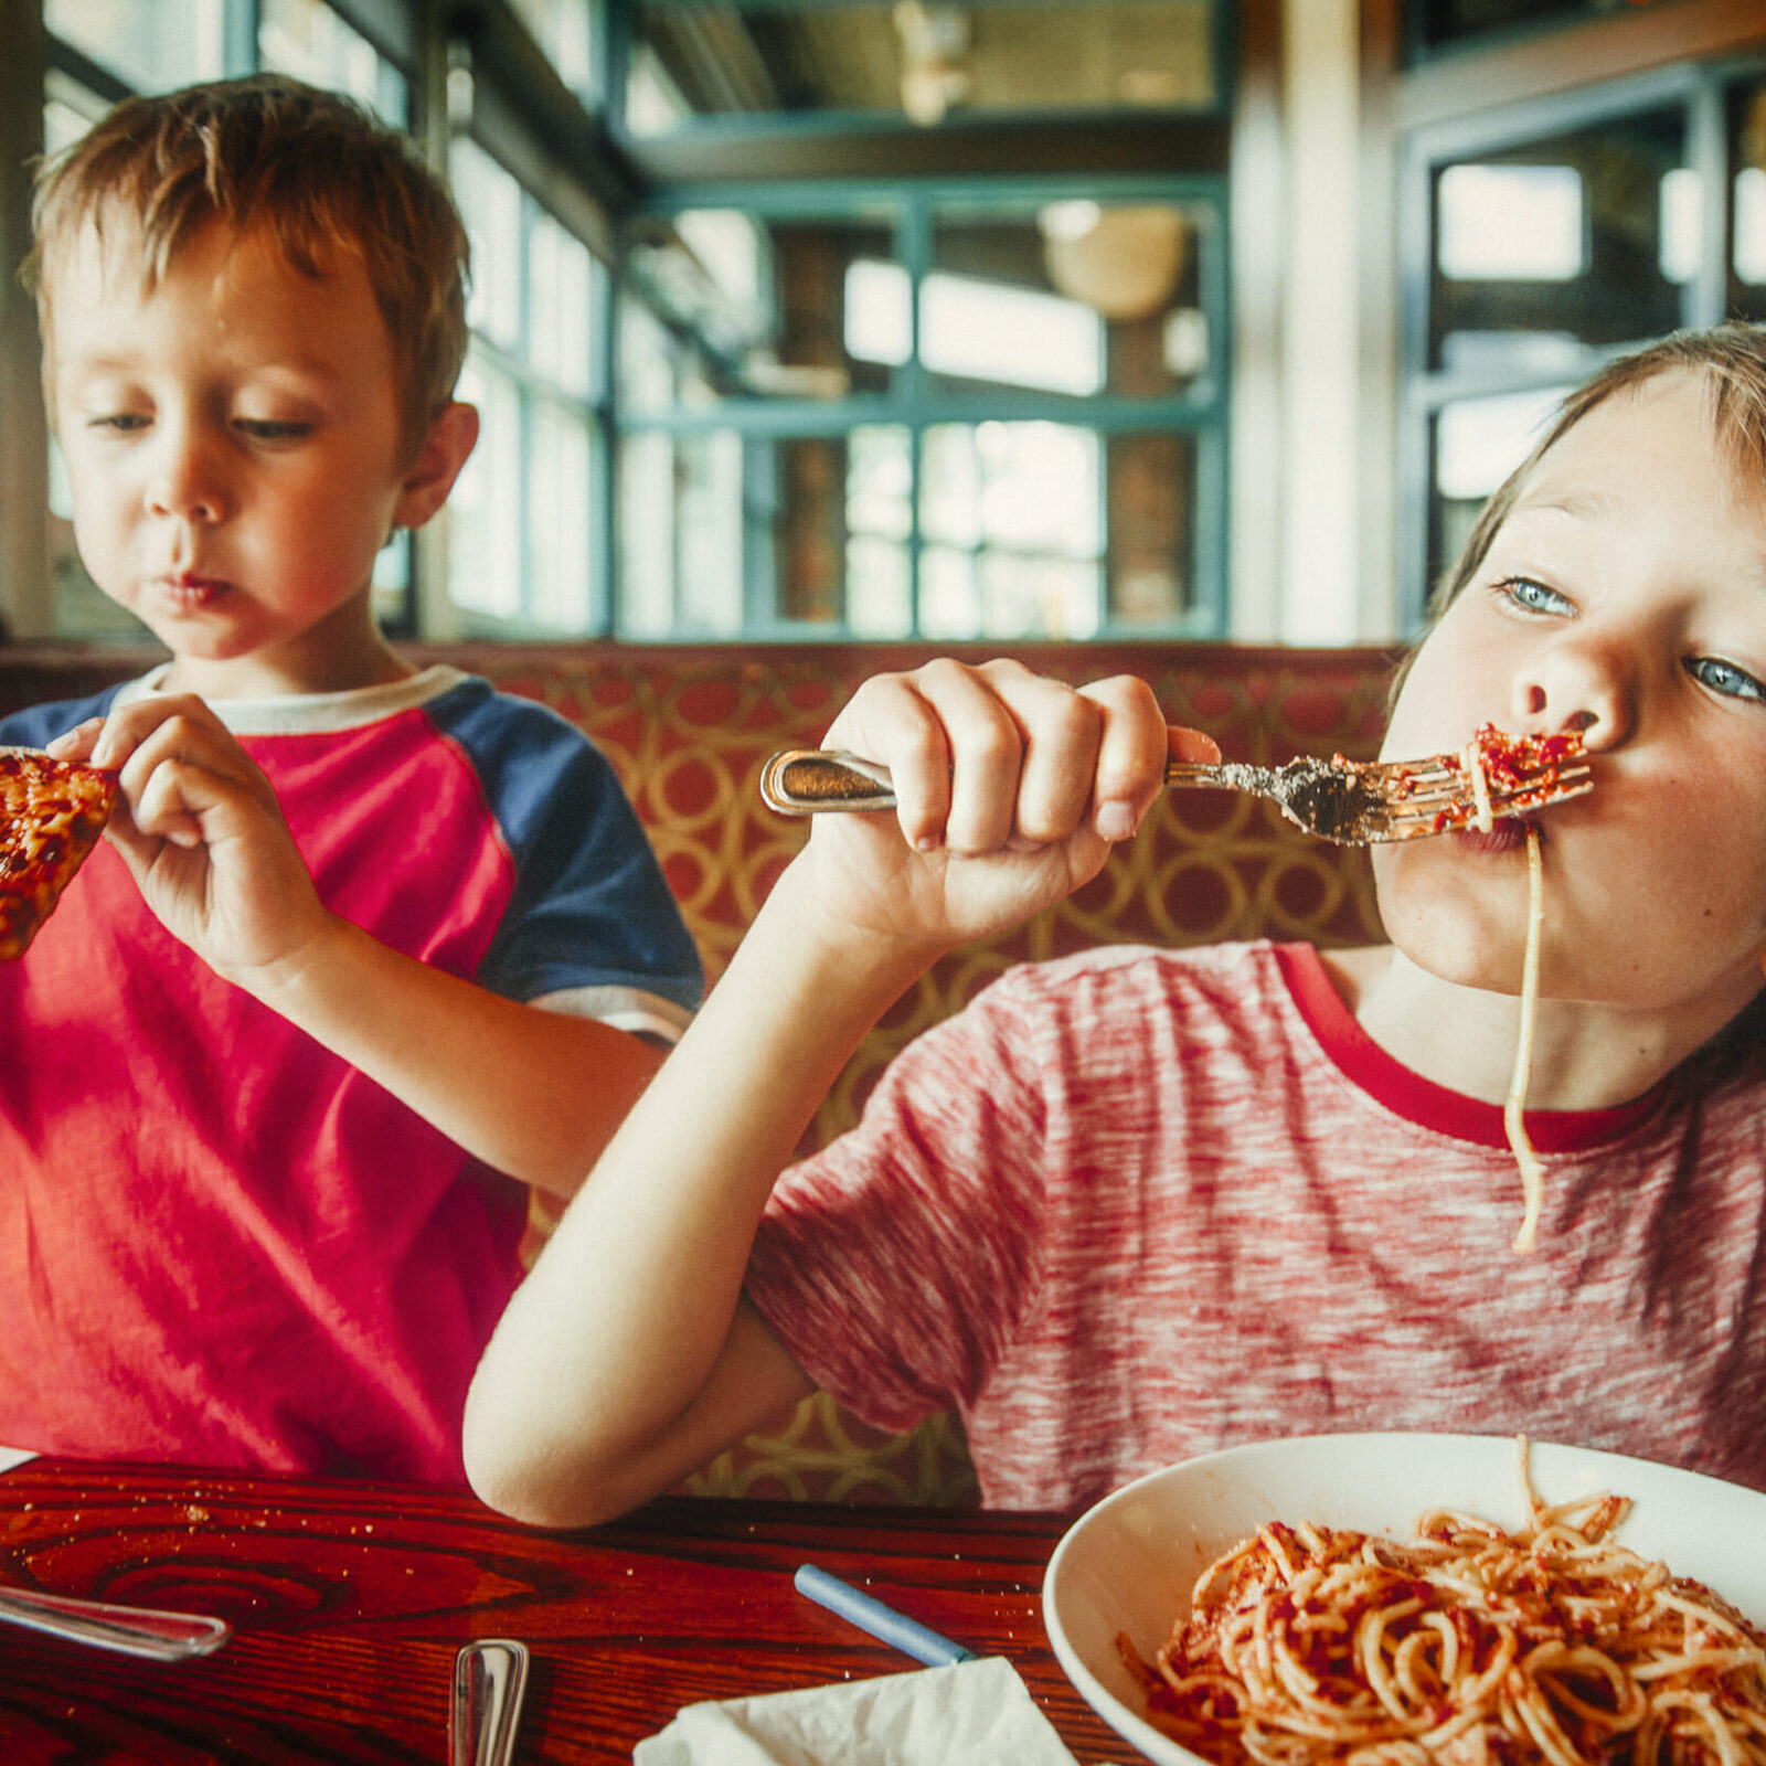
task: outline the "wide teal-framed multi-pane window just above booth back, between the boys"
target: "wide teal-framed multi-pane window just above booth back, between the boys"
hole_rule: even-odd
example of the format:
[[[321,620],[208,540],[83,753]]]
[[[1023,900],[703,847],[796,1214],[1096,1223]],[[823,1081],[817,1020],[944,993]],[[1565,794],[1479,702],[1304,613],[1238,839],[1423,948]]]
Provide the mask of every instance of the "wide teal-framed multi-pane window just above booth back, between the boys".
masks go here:
[[[804,196],[639,230],[622,630],[1217,630],[1219,210],[925,187],[828,215]],[[708,535],[728,551],[691,579]]]

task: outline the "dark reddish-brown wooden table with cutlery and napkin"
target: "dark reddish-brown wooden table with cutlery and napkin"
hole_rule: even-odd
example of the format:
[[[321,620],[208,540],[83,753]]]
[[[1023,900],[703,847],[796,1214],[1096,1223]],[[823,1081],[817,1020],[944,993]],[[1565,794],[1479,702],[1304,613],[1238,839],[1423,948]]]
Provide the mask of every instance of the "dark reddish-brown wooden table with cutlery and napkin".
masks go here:
[[[533,1651],[521,1761],[630,1761],[682,1704],[915,1664],[791,1586],[814,1561],[1005,1655],[1083,1762],[1127,1761],[1049,1651],[1045,1515],[664,1499],[546,1535],[468,1492],[30,1460],[0,1476],[0,1586],[230,1619],[161,1665],[0,1626],[0,1761],[447,1761],[454,1655]]]

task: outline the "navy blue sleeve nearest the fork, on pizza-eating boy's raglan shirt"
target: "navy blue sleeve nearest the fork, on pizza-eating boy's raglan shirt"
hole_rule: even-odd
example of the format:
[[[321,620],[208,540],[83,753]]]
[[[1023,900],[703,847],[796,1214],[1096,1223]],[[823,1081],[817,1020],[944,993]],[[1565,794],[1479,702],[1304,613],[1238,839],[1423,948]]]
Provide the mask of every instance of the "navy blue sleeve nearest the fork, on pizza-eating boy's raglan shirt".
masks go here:
[[[482,680],[427,712],[477,770],[516,865],[479,982],[510,1000],[634,987],[698,1007],[699,952],[608,758],[551,708]]]

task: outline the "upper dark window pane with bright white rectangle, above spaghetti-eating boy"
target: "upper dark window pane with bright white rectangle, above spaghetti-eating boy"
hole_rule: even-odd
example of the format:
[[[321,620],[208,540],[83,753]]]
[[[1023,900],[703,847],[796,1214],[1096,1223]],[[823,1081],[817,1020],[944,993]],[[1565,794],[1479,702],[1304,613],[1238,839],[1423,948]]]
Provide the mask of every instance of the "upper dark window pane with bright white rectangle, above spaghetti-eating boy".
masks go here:
[[[1466,373],[1679,325],[1697,244],[1685,231],[1688,170],[1679,106],[1443,166],[1429,366]]]

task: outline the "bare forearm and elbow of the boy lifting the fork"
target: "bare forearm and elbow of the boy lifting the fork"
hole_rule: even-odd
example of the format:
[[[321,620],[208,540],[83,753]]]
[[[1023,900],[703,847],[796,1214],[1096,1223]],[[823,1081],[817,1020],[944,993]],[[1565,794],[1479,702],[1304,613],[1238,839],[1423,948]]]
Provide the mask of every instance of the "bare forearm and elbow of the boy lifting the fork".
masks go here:
[[[486,1351],[466,1464],[494,1506],[615,1513],[796,1390],[777,1344],[731,1335],[754,1231],[821,1097],[924,961],[825,934],[793,871]]]

